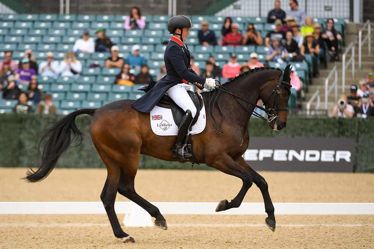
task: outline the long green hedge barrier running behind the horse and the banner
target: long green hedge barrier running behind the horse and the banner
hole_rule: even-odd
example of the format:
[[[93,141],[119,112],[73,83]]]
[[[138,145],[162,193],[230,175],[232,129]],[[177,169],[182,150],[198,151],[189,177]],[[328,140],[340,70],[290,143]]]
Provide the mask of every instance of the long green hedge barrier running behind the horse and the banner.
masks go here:
[[[0,115],[0,166],[39,166],[38,144],[41,132],[63,115]],[[82,144],[75,142],[62,155],[57,168],[105,168],[89,137],[92,117],[81,115],[76,118],[77,127],[87,136]],[[211,128],[208,124],[206,129]],[[262,137],[350,137],[355,138],[355,172],[374,172],[374,119],[344,118],[300,118],[290,116],[287,127],[272,131],[262,119],[249,121],[249,136]],[[76,146],[76,147],[73,147]],[[139,168],[191,169],[190,164],[166,162],[142,155]],[[193,169],[212,169],[206,165],[195,165]]]

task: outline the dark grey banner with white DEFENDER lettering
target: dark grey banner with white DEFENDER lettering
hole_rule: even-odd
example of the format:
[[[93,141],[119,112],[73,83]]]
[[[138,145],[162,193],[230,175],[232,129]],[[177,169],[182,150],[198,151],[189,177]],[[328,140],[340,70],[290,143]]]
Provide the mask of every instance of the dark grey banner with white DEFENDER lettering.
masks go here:
[[[254,170],[353,172],[355,139],[251,137],[243,158]]]

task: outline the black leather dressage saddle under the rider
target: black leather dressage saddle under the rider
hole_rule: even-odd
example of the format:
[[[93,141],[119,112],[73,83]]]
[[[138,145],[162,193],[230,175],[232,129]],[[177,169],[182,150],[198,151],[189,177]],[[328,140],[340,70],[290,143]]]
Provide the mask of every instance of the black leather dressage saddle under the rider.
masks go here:
[[[192,102],[196,106],[196,116],[194,117],[191,126],[196,124],[197,119],[200,115],[200,110],[203,108],[203,99],[199,96],[199,94],[194,93],[193,91],[187,91],[188,95],[190,95]],[[173,114],[173,119],[176,125],[178,127],[181,125],[182,118],[184,116],[184,111],[182,108],[180,108],[169,96],[164,94],[162,98],[159,100],[159,102],[156,104],[157,106],[171,109],[171,112]]]

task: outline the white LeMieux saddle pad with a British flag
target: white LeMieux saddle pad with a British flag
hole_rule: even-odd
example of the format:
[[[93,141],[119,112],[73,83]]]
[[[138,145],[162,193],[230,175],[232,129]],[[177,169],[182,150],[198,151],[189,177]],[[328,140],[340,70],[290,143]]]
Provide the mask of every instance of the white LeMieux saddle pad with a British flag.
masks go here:
[[[175,124],[171,109],[155,106],[150,112],[151,127],[154,134],[159,136],[177,136],[178,126]],[[199,134],[205,129],[206,115],[205,108],[200,111],[196,124],[188,134]]]

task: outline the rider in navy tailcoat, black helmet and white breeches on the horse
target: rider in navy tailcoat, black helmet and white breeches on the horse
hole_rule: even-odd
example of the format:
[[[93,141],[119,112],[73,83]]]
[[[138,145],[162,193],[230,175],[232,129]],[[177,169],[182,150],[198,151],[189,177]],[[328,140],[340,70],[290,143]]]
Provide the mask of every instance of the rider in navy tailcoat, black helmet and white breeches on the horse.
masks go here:
[[[164,61],[166,67],[166,75],[159,81],[150,81],[147,87],[139,90],[146,92],[142,97],[132,102],[135,109],[141,112],[150,112],[161,97],[166,93],[178,106],[184,111],[184,116],[177,133],[177,141],[173,147],[173,156],[180,157],[185,160],[192,156],[183,149],[184,141],[188,129],[196,115],[196,107],[194,106],[187,91],[191,89],[189,84],[195,85],[202,90],[206,88],[212,90],[215,87],[215,79],[199,77],[196,72],[191,69],[191,55],[188,47],[183,42],[187,40],[189,29],[192,27],[190,18],[184,15],[173,16],[168,22],[168,31],[171,37],[165,49]]]

